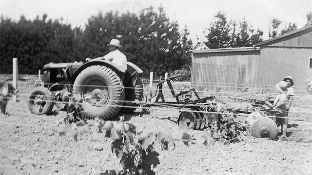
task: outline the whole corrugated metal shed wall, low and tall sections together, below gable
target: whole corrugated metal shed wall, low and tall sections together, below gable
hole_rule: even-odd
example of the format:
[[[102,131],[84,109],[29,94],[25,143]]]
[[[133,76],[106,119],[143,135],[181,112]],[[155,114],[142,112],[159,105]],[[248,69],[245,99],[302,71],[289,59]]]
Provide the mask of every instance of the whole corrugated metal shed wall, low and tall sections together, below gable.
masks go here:
[[[261,93],[274,90],[285,76],[294,77],[297,93],[305,91],[305,81],[312,75],[309,69],[309,48],[261,48],[254,53],[193,53],[192,84],[196,88],[222,91]]]

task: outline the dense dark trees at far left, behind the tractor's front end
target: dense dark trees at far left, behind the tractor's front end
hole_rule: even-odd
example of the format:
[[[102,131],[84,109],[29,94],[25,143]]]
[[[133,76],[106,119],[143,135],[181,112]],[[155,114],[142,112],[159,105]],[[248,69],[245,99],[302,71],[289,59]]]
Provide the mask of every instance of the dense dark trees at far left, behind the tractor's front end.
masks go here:
[[[19,72],[34,74],[49,62],[73,62],[79,59],[79,43],[70,25],[37,16],[33,21],[24,16],[18,22],[1,18],[0,59],[2,73],[12,71],[12,58],[19,61]]]

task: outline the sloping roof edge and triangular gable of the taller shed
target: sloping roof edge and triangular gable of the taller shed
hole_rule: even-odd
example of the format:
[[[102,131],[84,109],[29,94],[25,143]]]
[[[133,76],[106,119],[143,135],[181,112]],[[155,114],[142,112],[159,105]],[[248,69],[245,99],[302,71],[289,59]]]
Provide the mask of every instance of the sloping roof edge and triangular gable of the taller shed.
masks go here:
[[[300,36],[303,37],[301,38],[301,40],[299,39],[294,39],[294,38],[298,38]],[[293,46],[293,47],[310,47],[311,43],[312,43],[312,25],[307,25],[304,26],[300,29],[297,30],[293,30],[291,32],[288,32],[286,34],[283,35],[278,35],[276,37],[273,37],[272,39],[268,39],[262,42],[258,42],[256,43],[254,46],[258,47],[258,46]],[[304,42],[303,40],[307,40],[307,42]],[[289,42],[285,45],[285,41],[289,40]],[[283,42],[281,44],[281,42]],[[308,44],[307,44],[308,43]]]

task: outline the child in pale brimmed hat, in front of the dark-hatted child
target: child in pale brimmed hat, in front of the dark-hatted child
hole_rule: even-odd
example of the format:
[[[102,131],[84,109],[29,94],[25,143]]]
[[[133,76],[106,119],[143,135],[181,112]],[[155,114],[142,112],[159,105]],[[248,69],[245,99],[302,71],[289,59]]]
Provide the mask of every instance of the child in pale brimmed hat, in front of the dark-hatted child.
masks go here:
[[[278,110],[282,110],[283,113],[282,114],[278,114],[276,116],[280,116],[280,117],[276,117],[276,123],[277,125],[281,125],[282,127],[282,135],[281,138],[286,138],[286,132],[287,132],[287,124],[288,124],[288,112],[287,112],[287,106],[286,106],[286,101],[287,101],[287,82],[281,81],[279,83],[276,84],[275,88],[278,90],[278,92],[280,94],[278,94],[274,100],[273,103],[273,109],[278,109]]]

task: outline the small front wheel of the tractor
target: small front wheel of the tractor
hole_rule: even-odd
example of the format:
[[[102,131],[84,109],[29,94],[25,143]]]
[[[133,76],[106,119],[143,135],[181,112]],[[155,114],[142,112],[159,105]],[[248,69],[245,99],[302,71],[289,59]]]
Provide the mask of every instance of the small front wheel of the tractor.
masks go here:
[[[27,105],[34,114],[49,114],[53,109],[53,100],[54,97],[49,89],[36,87],[30,92]]]

